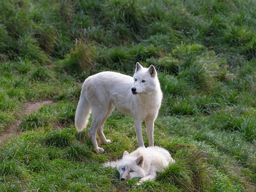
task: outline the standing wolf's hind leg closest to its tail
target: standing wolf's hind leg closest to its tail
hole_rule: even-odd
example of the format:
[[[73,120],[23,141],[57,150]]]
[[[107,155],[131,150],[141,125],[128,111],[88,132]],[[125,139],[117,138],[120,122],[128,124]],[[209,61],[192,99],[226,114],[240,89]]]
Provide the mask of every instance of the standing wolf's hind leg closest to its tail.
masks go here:
[[[96,131],[98,126],[102,122],[103,118],[105,117],[106,113],[107,113],[107,108],[103,108],[103,107],[92,108],[92,123],[89,129],[89,137],[91,138],[91,142],[94,145],[95,150],[97,150],[99,153],[103,153],[104,149],[98,147],[98,143],[96,140]]]

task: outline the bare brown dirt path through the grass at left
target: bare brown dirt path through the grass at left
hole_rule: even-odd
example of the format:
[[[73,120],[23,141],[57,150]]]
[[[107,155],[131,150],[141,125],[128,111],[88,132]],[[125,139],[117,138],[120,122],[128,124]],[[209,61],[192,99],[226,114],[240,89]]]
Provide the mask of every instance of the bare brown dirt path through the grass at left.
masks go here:
[[[38,108],[42,107],[43,105],[53,103],[52,101],[42,101],[42,102],[30,102],[25,104],[25,109],[21,111],[23,115],[28,115],[32,113],[32,111],[36,111]],[[4,139],[13,137],[13,135],[19,134],[18,127],[19,124],[21,123],[20,120],[15,122],[15,124],[10,125],[5,132],[0,133],[0,146],[2,145],[2,142]]]

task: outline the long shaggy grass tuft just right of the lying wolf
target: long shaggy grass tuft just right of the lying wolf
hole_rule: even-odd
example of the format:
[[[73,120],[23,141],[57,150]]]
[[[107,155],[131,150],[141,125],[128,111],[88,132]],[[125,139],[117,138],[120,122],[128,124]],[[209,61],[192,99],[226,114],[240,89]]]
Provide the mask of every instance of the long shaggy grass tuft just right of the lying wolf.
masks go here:
[[[205,164],[206,155],[195,149],[179,150],[176,152],[175,163],[165,167],[157,180],[171,182],[185,188],[187,191],[209,191],[213,180],[208,166]]]

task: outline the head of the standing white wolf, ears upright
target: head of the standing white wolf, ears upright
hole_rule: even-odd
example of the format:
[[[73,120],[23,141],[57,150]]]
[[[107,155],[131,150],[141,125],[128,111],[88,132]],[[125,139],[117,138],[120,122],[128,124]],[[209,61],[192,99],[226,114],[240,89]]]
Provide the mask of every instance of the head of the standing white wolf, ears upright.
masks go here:
[[[152,65],[149,68],[144,68],[137,62],[133,78],[134,85],[131,87],[133,94],[153,93],[158,91],[157,86],[160,87],[157,71]]]

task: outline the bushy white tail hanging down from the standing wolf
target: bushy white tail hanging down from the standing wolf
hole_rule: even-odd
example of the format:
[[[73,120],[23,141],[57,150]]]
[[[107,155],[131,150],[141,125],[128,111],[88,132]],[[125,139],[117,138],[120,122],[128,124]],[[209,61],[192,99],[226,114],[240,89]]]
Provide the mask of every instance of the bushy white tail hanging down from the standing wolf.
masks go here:
[[[91,113],[91,108],[84,94],[81,93],[75,113],[75,127],[76,131],[80,132],[87,126],[88,118]]]

